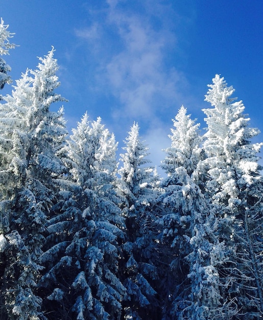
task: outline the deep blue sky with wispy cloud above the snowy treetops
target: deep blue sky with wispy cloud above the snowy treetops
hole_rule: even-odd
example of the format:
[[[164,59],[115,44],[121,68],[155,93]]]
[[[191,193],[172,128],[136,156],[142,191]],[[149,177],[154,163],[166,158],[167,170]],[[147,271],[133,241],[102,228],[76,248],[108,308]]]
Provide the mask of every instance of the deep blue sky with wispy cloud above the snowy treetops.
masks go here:
[[[5,57],[13,80],[55,47],[69,131],[87,110],[121,149],[138,122],[159,165],[182,104],[205,127],[201,109],[215,74],[263,131],[261,0],[2,0],[0,16],[19,44]]]

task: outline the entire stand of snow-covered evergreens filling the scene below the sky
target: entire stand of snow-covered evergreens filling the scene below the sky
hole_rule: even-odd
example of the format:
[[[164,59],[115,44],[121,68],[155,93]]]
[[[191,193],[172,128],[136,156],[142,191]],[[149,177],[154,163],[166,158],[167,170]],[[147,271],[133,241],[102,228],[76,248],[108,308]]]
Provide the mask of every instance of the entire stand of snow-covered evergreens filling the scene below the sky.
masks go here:
[[[262,143],[233,87],[208,85],[203,136],[179,109],[160,179],[135,123],[119,169],[101,118],[68,136],[54,49],[39,60],[1,97],[0,318],[261,318]]]

